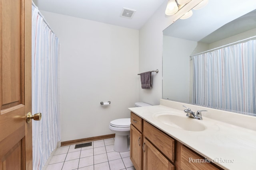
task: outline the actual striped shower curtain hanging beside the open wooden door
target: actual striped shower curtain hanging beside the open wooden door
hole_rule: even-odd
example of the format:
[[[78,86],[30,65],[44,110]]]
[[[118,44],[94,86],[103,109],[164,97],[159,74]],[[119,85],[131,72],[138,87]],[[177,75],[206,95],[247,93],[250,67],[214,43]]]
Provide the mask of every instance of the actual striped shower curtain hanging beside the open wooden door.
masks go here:
[[[33,121],[33,170],[42,170],[60,141],[58,111],[58,38],[32,6],[32,113],[42,113]]]

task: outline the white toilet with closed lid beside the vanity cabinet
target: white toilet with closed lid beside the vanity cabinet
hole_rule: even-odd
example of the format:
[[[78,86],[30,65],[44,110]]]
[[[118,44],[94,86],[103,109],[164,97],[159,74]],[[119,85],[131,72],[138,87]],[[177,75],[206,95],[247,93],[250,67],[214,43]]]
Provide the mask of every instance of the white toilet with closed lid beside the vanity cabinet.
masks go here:
[[[135,107],[151,106],[144,102],[136,102]],[[114,132],[114,150],[116,152],[127,152],[130,150],[130,118],[115,119],[110,122],[109,129]]]

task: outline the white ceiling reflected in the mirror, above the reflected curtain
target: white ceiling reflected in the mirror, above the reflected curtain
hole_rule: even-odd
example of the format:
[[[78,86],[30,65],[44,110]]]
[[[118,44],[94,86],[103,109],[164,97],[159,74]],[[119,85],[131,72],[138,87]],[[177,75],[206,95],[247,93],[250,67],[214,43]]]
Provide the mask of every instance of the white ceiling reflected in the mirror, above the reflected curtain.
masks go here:
[[[192,10],[192,17],[186,20],[178,20],[164,30],[164,35],[188,39],[192,41],[204,40],[204,42],[212,43],[214,41],[236,35],[238,29],[240,32],[247,31],[255,27],[255,15],[249,16],[251,20],[247,20],[252,24],[248,26],[246,20],[236,20],[236,24],[229,23],[230,21],[251,12],[256,9],[256,0],[209,0],[208,4],[200,10]],[[242,27],[243,25],[245,27]],[[225,25],[225,27],[222,27]],[[219,29],[222,27],[222,29]],[[218,29],[218,31],[216,31]],[[228,29],[228,33],[222,34],[223,29]],[[243,29],[243,30],[241,30]],[[207,35],[214,32],[214,35],[205,39]]]

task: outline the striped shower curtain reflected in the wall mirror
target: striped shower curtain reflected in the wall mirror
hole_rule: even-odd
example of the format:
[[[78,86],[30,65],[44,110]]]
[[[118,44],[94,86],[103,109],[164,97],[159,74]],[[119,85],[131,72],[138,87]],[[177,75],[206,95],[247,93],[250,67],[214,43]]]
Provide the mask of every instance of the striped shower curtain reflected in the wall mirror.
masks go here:
[[[193,102],[256,114],[256,40],[192,56]]]

